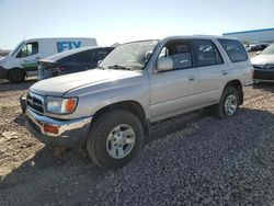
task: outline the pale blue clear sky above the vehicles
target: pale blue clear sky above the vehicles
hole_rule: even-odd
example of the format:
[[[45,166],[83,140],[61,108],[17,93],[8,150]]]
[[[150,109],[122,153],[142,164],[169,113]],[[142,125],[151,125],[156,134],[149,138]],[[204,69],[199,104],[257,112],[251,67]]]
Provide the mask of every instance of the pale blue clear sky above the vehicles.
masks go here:
[[[99,45],[274,27],[274,0],[0,0],[0,48],[23,38],[95,37]]]

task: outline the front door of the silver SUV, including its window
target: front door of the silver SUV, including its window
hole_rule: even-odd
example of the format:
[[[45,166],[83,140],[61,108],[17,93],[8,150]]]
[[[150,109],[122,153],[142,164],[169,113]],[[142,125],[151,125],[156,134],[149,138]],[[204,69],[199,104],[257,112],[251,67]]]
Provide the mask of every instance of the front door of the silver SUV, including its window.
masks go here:
[[[198,106],[197,69],[187,41],[168,42],[158,58],[169,57],[173,68],[150,76],[151,121],[160,121]]]

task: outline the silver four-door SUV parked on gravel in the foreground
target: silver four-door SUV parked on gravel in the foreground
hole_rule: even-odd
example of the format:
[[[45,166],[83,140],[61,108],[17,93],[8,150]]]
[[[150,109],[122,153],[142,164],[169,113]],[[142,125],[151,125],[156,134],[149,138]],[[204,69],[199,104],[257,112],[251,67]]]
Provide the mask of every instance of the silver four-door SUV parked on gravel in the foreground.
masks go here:
[[[173,36],[115,48],[94,70],[32,85],[26,127],[46,145],[77,147],[104,169],[133,160],[150,123],[202,107],[233,116],[252,67],[237,39]]]

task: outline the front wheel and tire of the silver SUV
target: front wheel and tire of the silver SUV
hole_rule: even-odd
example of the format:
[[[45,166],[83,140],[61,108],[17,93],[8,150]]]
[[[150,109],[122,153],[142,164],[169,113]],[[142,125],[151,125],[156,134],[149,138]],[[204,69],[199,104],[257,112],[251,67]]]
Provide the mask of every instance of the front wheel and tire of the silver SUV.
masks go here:
[[[126,129],[125,131],[132,134],[132,137],[128,136],[126,140],[123,139],[124,135],[118,133],[122,129]],[[127,145],[125,142],[127,140],[132,145]],[[123,144],[124,146],[122,146]],[[110,111],[99,116],[91,126],[87,139],[90,158],[95,164],[105,170],[117,170],[128,164],[141,150],[142,146],[144,128],[140,121],[133,113],[124,110]],[[125,157],[121,156],[123,153],[121,148],[123,151],[125,149]]]

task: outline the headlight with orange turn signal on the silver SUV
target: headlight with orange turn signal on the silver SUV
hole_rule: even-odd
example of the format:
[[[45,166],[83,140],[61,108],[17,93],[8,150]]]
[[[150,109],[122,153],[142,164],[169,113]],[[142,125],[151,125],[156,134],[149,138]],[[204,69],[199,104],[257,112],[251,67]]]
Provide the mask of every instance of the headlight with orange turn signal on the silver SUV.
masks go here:
[[[71,114],[75,112],[78,98],[46,96],[46,112],[54,114]]]

